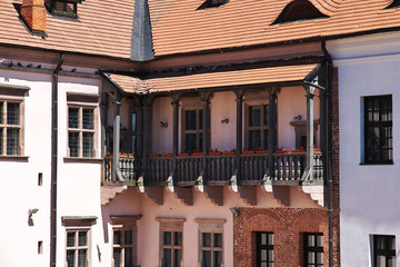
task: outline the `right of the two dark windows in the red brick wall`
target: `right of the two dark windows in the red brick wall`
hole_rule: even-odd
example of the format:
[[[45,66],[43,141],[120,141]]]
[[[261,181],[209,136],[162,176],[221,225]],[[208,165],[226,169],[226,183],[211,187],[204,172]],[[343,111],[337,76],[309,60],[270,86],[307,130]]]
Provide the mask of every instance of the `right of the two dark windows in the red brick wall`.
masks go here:
[[[317,267],[323,266],[323,234],[308,233],[304,234],[304,266]]]

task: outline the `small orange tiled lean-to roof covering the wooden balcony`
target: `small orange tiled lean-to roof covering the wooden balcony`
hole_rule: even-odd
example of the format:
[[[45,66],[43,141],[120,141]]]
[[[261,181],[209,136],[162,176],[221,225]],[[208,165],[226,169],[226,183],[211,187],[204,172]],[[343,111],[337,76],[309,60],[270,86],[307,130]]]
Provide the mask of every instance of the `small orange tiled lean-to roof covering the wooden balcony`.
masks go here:
[[[139,80],[138,78],[122,75],[108,75],[108,77],[126,92],[151,93],[254,83],[302,81],[316,67],[317,65],[269,67],[147,80]]]

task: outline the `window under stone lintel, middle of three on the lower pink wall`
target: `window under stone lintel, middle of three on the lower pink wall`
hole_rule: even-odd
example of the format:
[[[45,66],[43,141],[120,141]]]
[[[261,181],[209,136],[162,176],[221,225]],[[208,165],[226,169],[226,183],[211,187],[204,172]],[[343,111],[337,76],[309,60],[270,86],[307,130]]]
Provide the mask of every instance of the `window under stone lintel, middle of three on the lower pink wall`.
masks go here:
[[[182,266],[182,231],[162,231],[161,263],[162,267]]]

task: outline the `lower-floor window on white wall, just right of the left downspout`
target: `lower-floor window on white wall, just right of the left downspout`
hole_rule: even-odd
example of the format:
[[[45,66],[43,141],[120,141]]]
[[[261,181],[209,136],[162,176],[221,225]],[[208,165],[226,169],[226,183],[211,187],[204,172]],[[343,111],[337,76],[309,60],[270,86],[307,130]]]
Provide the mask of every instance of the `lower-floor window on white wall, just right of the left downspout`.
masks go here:
[[[67,229],[67,267],[89,267],[89,229]]]

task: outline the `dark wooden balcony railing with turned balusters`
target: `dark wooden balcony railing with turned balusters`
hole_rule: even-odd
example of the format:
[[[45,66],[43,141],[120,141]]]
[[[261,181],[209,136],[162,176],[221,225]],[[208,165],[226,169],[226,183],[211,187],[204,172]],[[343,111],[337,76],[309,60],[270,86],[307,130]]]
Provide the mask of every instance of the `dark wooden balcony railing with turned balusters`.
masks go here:
[[[104,158],[103,184],[134,185],[143,176],[144,185],[163,185],[170,176],[177,185],[196,185],[199,177],[206,185],[228,185],[236,175],[239,185],[260,185],[261,181],[276,184],[299,184],[306,169],[306,152],[274,154],[273,171],[268,172],[268,154],[240,155],[240,171],[237,174],[236,155],[177,157],[150,157],[146,160],[147,170],[141,168],[141,160],[120,158],[120,175],[112,179],[112,157]],[[206,166],[204,166],[206,165]],[[173,169],[173,166],[176,168]],[[322,155],[313,156],[313,181],[323,180]]]

